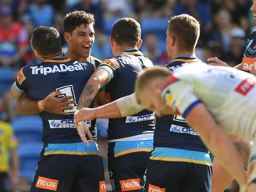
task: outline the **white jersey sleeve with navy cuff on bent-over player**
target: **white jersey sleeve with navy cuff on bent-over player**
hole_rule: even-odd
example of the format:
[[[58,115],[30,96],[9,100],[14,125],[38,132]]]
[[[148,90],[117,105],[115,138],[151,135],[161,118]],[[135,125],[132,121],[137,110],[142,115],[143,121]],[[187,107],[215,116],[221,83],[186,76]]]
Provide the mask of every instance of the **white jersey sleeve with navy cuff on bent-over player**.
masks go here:
[[[171,76],[162,91],[162,98],[165,103],[176,114],[186,118],[187,114],[199,103],[202,103],[193,93],[189,83]]]

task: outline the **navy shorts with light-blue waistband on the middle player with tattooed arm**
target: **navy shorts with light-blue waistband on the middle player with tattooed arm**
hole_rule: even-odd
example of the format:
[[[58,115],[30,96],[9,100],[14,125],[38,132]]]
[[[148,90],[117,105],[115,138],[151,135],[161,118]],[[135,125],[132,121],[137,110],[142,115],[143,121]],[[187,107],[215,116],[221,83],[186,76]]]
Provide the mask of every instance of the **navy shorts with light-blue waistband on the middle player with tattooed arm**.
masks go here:
[[[153,140],[108,143],[108,171],[113,192],[143,192]]]

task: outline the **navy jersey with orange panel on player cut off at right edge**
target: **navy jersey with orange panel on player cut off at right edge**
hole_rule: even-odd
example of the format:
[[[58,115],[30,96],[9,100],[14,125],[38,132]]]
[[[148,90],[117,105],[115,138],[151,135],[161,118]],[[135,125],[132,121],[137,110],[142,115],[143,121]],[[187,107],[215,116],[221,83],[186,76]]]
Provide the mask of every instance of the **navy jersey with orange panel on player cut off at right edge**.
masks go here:
[[[256,31],[249,34],[243,54],[243,70],[256,69]]]

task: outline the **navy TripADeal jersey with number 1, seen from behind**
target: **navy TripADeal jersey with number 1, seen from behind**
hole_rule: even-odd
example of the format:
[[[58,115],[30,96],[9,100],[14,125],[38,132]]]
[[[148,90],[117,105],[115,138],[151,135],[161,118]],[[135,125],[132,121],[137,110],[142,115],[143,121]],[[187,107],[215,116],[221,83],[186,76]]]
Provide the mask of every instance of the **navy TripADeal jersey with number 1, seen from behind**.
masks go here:
[[[72,96],[74,109],[65,110],[68,116],[43,112],[43,142],[72,143],[81,142],[74,123],[74,112],[80,94],[88,79],[95,72],[96,67],[88,62],[79,62],[59,57],[46,60],[35,65],[26,65],[17,75],[14,88],[17,91],[27,91],[33,100],[43,100],[48,94],[56,90],[62,94],[58,97]],[[93,102],[90,105],[93,107]],[[87,122],[90,131],[96,137],[95,125]]]

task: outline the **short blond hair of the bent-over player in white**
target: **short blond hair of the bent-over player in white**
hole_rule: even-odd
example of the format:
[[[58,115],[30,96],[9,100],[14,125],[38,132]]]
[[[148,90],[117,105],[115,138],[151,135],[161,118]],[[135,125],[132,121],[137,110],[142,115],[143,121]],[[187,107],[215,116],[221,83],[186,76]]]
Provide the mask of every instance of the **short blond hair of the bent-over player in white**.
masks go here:
[[[143,89],[148,89],[151,84],[150,81],[158,78],[169,77],[172,71],[164,66],[155,66],[143,69],[138,75],[135,81],[135,95],[137,102],[140,104],[138,95]]]

